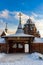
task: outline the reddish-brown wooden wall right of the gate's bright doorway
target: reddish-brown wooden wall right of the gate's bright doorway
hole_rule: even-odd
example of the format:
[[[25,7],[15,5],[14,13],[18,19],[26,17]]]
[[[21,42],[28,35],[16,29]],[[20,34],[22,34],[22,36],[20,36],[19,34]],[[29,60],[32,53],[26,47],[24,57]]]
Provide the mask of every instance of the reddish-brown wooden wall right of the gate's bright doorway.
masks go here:
[[[39,52],[43,53],[43,43],[32,43],[30,45],[30,52]]]

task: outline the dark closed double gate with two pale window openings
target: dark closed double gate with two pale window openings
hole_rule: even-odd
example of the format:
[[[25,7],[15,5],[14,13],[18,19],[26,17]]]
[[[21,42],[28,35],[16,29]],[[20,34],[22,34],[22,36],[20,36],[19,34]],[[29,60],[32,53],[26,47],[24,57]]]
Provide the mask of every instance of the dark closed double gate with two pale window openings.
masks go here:
[[[24,53],[24,45],[22,43],[9,44],[9,53]]]

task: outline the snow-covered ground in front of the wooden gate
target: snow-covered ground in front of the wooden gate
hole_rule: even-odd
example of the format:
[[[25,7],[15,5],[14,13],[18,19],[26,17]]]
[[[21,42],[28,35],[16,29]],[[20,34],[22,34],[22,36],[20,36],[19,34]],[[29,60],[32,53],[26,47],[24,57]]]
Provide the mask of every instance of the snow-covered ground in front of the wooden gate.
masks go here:
[[[32,54],[4,54],[0,53],[0,65],[43,65],[43,55]]]

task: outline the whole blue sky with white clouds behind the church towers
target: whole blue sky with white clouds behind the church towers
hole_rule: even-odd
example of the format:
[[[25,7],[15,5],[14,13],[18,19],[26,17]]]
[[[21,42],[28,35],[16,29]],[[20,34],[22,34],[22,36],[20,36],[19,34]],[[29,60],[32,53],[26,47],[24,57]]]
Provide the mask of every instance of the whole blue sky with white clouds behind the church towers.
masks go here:
[[[34,19],[36,27],[43,35],[43,0],[0,0],[0,29],[5,28],[6,22],[9,29],[16,29],[19,12],[22,12],[25,19],[28,16]]]

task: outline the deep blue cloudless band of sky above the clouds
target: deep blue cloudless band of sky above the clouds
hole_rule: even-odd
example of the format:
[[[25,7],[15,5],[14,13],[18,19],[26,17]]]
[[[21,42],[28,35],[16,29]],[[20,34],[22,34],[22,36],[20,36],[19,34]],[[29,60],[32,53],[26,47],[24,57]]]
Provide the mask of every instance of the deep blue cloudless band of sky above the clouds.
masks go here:
[[[8,9],[10,11],[42,11],[43,0],[0,0],[0,10]],[[42,12],[43,13],[43,12]]]

